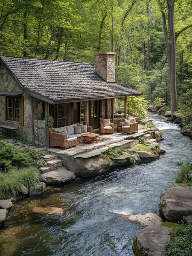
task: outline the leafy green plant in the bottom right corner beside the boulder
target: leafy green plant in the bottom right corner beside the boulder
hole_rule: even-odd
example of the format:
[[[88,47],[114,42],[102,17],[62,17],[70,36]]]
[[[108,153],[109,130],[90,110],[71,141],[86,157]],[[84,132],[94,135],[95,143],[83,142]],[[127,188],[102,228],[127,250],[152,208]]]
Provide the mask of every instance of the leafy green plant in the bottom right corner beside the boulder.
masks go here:
[[[180,225],[166,243],[166,255],[192,256],[192,225]]]

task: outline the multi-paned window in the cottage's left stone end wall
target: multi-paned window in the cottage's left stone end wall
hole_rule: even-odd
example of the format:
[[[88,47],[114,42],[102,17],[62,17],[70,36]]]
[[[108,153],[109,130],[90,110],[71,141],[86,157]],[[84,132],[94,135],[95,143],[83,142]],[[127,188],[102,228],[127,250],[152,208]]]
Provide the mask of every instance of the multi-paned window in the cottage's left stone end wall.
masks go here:
[[[20,101],[22,98],[6,97],[6,119],[20,121]]]

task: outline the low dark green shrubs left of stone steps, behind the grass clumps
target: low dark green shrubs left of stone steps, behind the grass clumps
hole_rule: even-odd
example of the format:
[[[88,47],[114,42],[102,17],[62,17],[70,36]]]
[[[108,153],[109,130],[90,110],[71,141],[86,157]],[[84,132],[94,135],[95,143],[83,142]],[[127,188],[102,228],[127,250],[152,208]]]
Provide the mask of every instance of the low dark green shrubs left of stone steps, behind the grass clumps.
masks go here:
[[[37,152],[35,150],[21,150],[19,148],[13,148],[13,144],[4,143],[0,141],[0,170],[6,172],[13,166],[36,166],[42,167],[46,163],[41,159],[40,155],[44,153]]]

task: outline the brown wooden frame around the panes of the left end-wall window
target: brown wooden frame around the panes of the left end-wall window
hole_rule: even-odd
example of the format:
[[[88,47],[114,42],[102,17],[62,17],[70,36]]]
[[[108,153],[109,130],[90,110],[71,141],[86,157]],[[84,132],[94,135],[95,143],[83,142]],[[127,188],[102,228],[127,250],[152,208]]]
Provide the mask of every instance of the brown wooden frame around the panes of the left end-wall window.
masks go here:
[[[12,117],[8,117],[8,99],[11,98],[12,100]],[[15,118],[15,99],[19,99],[19,118]],[[6,96],[5,99],[6,106],[5,106],[5,119],[6,121],[12,121],[15,123],[19,123],[20,125],[24,125],[24,100],[23,97],[11,97]]]

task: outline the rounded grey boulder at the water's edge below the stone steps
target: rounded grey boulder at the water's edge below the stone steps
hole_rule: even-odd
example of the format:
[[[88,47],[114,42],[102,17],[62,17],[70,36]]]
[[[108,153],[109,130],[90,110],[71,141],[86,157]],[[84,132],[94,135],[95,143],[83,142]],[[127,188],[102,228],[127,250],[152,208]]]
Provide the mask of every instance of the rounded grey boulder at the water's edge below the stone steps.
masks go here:
[[[60,184],[75,179],[76,175],[61,167],[50,172],[45,172],[41,177],[46,184]]]

